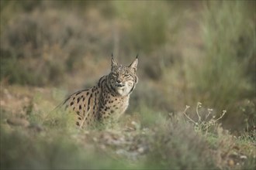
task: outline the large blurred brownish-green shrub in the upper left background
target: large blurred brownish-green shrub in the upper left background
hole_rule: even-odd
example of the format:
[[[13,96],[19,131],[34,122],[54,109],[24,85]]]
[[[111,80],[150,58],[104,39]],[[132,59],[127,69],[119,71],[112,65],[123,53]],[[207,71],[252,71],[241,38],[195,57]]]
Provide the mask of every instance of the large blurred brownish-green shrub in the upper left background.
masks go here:
[[[67,9],[56,8],[44,2],[33,5],[31,10],[18,11],[19,15],[8,18],[6,23],[1,22],[0,80],[36,86],[57,85],[64,80],[64,73],[85,68],[86,56],[106,55],[111,37],[102,38],[109,27],[98,26],[101,17],[67,14]]]

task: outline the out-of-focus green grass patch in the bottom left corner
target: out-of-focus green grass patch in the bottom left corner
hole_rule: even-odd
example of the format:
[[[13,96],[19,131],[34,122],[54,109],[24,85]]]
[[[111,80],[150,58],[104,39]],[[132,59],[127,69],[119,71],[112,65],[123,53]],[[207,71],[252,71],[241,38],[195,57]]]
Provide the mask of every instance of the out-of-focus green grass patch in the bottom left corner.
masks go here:
[[[2,129],[1,168],[56,169],[56,168],[123,168],[124,161],[109,158],[104,151],[84,147],[64,131],[28,134]],[[24,131],[23,131],[24,132]],[[46,134],[47,133],[47,134]],[[74,134],[73,134],[74,135]],[[11,143],[10,143],[11,141]],[[82,148],[82,149],[81,149]],[[95,163],[98,160],[99,163]]]

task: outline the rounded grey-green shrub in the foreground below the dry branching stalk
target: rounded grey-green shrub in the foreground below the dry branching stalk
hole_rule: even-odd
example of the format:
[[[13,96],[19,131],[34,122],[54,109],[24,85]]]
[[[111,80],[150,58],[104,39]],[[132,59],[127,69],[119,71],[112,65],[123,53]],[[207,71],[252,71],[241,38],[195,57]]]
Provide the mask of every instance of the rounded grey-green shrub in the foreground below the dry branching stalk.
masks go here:
[[[194,131],[192,124],[183,122],[182,117],[171,116],[165,123],[157,124],[156,129],[149,139],[147,168],[216,168],[206,140]]]

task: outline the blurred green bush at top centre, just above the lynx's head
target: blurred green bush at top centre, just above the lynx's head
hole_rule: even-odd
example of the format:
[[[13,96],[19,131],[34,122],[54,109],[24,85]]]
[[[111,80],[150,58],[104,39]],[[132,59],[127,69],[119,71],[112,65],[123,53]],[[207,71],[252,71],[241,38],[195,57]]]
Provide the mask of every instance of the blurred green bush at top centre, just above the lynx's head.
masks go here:
[[[116,15],[128,25],[130,46],[149,52],[166,42],[168,33],[168,4],[165,2],[114,2]]]

